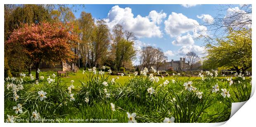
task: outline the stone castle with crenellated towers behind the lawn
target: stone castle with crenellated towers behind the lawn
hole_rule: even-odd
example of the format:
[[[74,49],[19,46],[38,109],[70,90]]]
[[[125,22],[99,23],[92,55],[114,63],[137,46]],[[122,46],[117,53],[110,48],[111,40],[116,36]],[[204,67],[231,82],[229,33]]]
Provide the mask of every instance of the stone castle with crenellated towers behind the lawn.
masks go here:
[[[180,58],[179,61],[173,61],[173,59],[171,60],[171,62],[166,62],[164,61],[163,64],[159,67],[159,71],[167,71],[167,70],[188,70],[190,68],[190,61],[188,61],[188,63],[185,62],[185,58]]]

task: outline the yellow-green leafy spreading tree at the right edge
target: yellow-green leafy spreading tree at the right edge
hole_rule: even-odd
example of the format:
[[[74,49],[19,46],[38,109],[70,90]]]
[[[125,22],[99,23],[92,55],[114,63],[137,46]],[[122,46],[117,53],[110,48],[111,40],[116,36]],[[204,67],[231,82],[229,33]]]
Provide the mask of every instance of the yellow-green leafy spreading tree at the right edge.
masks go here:
[[[251,29],[230,30],[224,39],[217,39],[216,45],[206,45],[208,55],[204,60],[206,68],[235,68],[244,73],[251,68]]]

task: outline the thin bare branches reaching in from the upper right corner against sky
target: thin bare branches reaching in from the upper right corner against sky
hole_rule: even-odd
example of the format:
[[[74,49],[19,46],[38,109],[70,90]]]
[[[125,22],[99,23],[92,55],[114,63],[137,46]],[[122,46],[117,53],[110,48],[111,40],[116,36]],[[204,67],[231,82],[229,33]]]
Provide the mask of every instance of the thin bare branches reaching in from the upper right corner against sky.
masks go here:
[[[215,44],[216,38],[223,38],[231,31],[249,29],[252,25],[252,8],[251,5],[218,5],[218,12],[209,22],[204,21],[199,26],[206,26],[207,30],[198,31],[207,32],[211,35],[205,35],[205,42]],[[201,36],[200,36],[201,37]]]

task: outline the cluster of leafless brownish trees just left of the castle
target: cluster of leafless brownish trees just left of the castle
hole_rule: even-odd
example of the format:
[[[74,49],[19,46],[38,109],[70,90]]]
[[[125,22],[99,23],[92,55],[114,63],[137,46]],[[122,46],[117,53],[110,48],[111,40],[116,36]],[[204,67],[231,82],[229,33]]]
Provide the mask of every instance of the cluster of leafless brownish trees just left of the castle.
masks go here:
[[[167,56],[164,56],[164,52],[160,48],[146,46],[142,47],[140,51],[141,68],[156,66],[156,69],[158,70],[164,60],[167,60]]]

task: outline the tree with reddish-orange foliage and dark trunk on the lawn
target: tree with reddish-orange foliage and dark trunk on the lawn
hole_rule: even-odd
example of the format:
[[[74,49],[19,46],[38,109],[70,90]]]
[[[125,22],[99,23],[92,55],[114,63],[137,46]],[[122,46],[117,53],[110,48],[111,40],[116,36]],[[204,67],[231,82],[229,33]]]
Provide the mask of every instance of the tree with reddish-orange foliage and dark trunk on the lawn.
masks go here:
[[[73,34],[72,29],[64,27],[62,23],[41,23],[32,26],[25,24],[24,27],[14,30],[5,45],[20,45],[20,50],[29,61],[36,63],[38,70],[41,61],[47,64],[72,61],[75,55],[71,47],[77,41],[78,37]],[[8,51],[5,53],[12,57]],[[39,79],[37,72],[36,79]]]

